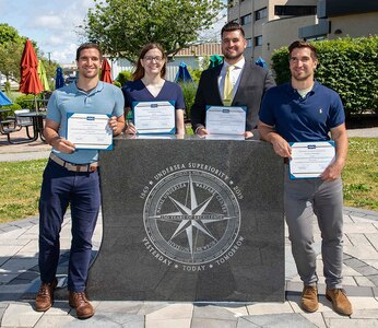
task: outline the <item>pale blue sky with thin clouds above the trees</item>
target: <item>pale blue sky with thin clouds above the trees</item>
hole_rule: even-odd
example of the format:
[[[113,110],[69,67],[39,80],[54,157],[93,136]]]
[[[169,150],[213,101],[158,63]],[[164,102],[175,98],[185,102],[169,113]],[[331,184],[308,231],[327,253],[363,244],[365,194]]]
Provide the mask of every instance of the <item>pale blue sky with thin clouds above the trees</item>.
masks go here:
[[[45,58],[60,65],[72,63],[82,42],[78,26],[93,7],[93,0],[0,0],[0,23],[8,23],[21,36],[35,40]],[[224,22],[221,20],[217,25]]]

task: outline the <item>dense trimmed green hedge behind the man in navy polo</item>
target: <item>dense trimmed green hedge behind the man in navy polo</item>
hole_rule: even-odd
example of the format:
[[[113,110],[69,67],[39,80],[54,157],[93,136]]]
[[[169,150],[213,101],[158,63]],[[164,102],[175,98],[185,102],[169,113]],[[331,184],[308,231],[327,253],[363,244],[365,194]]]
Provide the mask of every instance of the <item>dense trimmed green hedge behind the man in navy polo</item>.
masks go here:
[[[335,90],[347,116],[371,109],[378,114],[378,36],[315,42],[319,57],[316,79]],[[277,84],[290,81],[287,48],[273,56]]]

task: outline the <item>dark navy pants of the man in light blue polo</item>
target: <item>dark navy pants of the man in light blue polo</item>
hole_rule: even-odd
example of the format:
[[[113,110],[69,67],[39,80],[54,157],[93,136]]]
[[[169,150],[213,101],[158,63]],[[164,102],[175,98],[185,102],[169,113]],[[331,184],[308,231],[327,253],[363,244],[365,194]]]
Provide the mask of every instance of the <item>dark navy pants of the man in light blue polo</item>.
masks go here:
[[[92,253],[92,236],[101,204],[98,172],[75,173],[48,161],[39,199],[39,271],[51,282],[59,262],[59,234],[68,206],[71,207],[71,250],[68,289],[83,292]]]

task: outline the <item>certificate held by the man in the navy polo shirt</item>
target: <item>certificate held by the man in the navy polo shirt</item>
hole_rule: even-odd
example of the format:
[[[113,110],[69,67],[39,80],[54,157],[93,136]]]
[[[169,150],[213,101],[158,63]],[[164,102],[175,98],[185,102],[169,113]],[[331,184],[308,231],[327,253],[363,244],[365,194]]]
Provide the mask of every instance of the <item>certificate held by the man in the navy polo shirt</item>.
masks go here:
[[[334,161],[334,141],[291,142],[290,178],[317,178]]]

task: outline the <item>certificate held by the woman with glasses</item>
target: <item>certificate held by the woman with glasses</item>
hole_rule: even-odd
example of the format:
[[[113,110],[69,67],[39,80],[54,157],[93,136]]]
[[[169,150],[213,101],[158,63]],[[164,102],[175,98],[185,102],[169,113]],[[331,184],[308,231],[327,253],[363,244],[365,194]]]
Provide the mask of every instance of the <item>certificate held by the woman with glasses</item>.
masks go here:
[[[133,124],[139,134],[175,134],[175,102],[134,102],[132,108]]]

